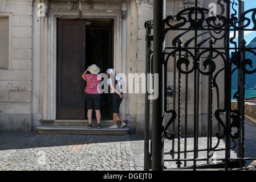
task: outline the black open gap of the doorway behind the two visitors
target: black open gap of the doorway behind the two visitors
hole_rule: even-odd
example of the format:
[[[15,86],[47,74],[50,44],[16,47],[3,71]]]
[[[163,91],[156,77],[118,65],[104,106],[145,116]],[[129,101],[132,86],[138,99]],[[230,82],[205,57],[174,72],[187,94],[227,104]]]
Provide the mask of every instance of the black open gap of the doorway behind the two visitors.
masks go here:
[[[113,20],[87,19],[86,26],[86,68],[96,64],[100,73],[113,67]],[[101,119],[112,119],[110,94],[101,94]],[[87,111],[86,116],[87,118]],[[92,112],[95,117],[95,111]]]

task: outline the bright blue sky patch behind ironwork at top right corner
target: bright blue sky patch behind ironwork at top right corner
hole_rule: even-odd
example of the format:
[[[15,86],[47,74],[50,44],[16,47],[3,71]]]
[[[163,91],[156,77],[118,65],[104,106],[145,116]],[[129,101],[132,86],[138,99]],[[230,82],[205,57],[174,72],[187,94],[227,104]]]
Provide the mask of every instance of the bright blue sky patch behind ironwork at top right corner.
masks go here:
[[[235,2],[238,2],[238,1],[236,0]],[[245,2],[245,11],[256,8],[256,0],[244,0],[244,2]],[[251,15],[252,13],[249,13],[246,15],[246,17],[251,19]],[[251,21],[251,24],[246,28],[252,28],[252,27],[253,27],[253,22]],[[233,35],[234,35],[234,32],[230,32],[230,38]],[[246,45],[249,44],[251,40],[253,40],[255,37],[256,37],[256,31],[244,31],[244,39],[246,40]],[[237,40],[237,38],[234,40]]]

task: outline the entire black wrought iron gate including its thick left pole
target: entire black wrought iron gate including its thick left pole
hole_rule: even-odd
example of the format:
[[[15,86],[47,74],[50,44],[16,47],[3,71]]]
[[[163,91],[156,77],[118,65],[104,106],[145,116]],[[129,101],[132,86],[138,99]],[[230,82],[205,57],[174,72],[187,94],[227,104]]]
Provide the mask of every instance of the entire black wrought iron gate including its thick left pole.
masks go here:
[[[159,81],[153,83],[159,86],[159,97],[153,100],[151,145],[149,93],[145,97],[145,170],[151,168],[151,164],[153,170],[162,170],[164,162],[176,162],[178,168],[227,170],[241,168],[245,160],[254,159],[244,157],[244,120],[245,76],[255,73],[256,68],[252,67],[252,59],[245,56],[250,52],[256,58],[256,48],[246,47],[243,34],[244,31],[256,32],[256,9],[243,12],[241,0],[238,3],[218,0],[216,5],[221,12],[213,14],[195,0],[194,7],[165,17],[165,1],[158,0],[154,2],[154,20],[145,22],[146,72],[159,74]],[[234,6],[238,6],[239,12]],[[249,28],[251,21],[253,28]],[[234,31],[233,36],[230,36],[231,31]],[[234,41],[237,31],[238,40]],[[233,73],[238,75],[237,92],[233,96],[237,108],[231,107]],[[172,98],[168,96],[168,86],[173,90]],[[165,122],[165,118],[168,121]],[[206,146],[199,146],[204,127]],[[164,152],[164,138],[172,141],[169,152]],[[192,148],[188,148],[189,139],[192,139]],[[220,148],[222,142],[225,147]],[[234,149],[237,155],[231,156]],[[205,157],[199,157],[198,152],[203,151]],[[224,155],[217,156],[211,163],[216,151],[224,151]],[[205,164],[199,165],[199,162]]]

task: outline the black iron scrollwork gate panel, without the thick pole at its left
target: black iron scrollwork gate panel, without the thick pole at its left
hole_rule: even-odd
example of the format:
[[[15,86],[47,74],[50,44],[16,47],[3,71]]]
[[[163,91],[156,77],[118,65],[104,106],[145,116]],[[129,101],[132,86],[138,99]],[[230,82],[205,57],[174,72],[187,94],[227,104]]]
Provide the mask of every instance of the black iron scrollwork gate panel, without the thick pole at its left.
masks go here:
[[[256,72],[256,68],[253,68],[253,60],[249,57],[245,57],[246,53],[251,53],[256,57],[256,48],[245,47],[245,41],[242,43],[236,41],[237,31],[253,31],[256,30],[256,8],[243,12],[235,10],[234,6],[241,5],[241,0],[218,0],[217,6],[221,10],[220,14],[216,16],[210,16],[210,10],[204,7],[198,7],[195,0],[194,7],[188,7],[177,15],[168,15],[165,18],[164,33],[167,35],[170,31],[179,31],[180,34],[172,37],[170,44],[172,47],[165,47],[165,60],[164,60],[164,78],[165,88],[167,88],[167,67],[168,63],[172,64],[173,69],[173,108],[170,109],[170,104],[167,103],[165,97],[165,113],[171,114],[169,121],[164,127],[164,136],[168,140],[177,138],[177,150],[173,148],[168,154],[172,156],[172,160],[177,162],[178,167],[181,166],[181,161],[184,161],[184,167],[186,166],[186,153],[194,152],[193,168],[197,167],[198,151],[214,151],[217,150],[220,140],[225,138],[227,142],[225,150],[225,164],[229,163],[229,150],[237,147],[239,151],[243,150],[244,146],[244,86],[245,86],[245,74],[252,74]],[[239,7],[238,7],[239,8]],[[234,13],[230,13],[233,10]],[[251,17],[248,17],[250,16]],[[253,27],[249,28],[249,24],[253,23]],[[230,36],[230,32],[234,31],[234,35]],[[192,34],[188,38],[188,34]],[[239,32],[239,36],[241,36]],[[185,37],[185,39],[184,39]],[[154,37],[155,38],[155,37]],[[228,39],[229,38],[229,39]],[[147,38],[146,38],[147,39]],[[157,38],[155,38],[157,39]],[[184,39],[182,41],[182,39]],[[241,38],[242,40],[243,38]],[[149,39],[147,39],[148,41]],[[209,45],[206,45],[209,41]],[[183,45],[184,46],[183,46]],[[215,46],[215,45],[222,46]],[[231,48],[230,44],[233,44]],[[230,51],[232,50],[232,52]],[[231,57],[229,55],[231,53]],[[217,62],[218,60],[218,62]],[[249,68],[250,67],[250,68]],[[238,71],[241,82],[238,83],[237,92],[234,94],[234,98],[238,101],[237,109],[231,109],[231,79],[232,74]],[[201,77],[206,77],[206,88],[201,88],[201,92],[205,92],[204,95],[207,98],[207,105],[200,103],[200,84]],[[217,78],[222,76],[221,80],[224,85],[218,85]],[[194,84],[193,88],[188,88],[189,84]],[[170,81],[169,81],[170,82]],[[177,84],[177,85],[176,85]],[[183,84],[183,85],[182,85]],[[224,88],[224,94],[220,94],[220,89]],[[190,90],[189,90],[190,89]],[[214,89],[216,94],[214,94]],[[165,93],[166,96],[166,93]],[[188,123],[188,96],[194,99],[193,103],[193,137],[194,148],[191,151],[180,151],[181,146],[181,125],[184,125],[184,145],[186,141],[186,124]],[[215,96],[215,97],[214,97]],[[220,100],[224,98],[224,100]],[[191,102],[190,98],[190,102]],[[216,105],[214,105],[216,102]],[[192,103],[189,103],[192,106]],[[199,125],[199,106],[208,107],[207,109],[207,130],[208,130],[208,146],[204,149],[198,148],[198,125]],[[205,103],[204,103],[205,104]],[[177,106],[176,106],[177,105]],[[182,107],[183,106],[183,107]],[[217,109],[216,109],[217,107]],[[166,109],[168,108],[168,109]],[[191,111],[190,111],[191,112]],[[201,118],[203,119],[203,117]],[[218,129],[213,133],[213,119],[216,119]],[[175,123],[177,120],[177,123]],[[177,124],[177,125],[175,125]],[[173,131],[169,131],[169,127],[173,125]],[[190,123],[191,125],[191,123]],[[177,127],[177,128],[176,128]],[[177,129],[177,130],[175,130]],[[216,146],[212,146],[212,137],[216,136]],[[232,147],[231,142],[234,143]],[[184,153],[184,159],[180,158],[180,154]],[[178,158],[174,158],[174,154],[177,154]],[[243,160],[243,154],[241,152],[237,155],[239,160]],[[209,159],[209,156],[208,156]],[[238,159],[235,159],[238,160]],[[239,161],[241,164],[243,161]]]

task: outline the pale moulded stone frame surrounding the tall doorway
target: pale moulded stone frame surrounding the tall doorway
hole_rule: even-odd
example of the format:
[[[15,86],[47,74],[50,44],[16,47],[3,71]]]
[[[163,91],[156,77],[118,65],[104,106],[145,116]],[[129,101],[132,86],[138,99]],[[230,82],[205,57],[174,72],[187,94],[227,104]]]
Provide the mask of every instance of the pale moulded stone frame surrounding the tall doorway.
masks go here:
[[[44,59],[44,68],[46,71],[43,72],[43,119],[56,119],[56,35],[57,35],[57,18],[70,18],[77,19],[77,12],[59,12],[51,10],[49,16],[45,19],[46,35],[48,35],[48,55]],[[113,19],[113,67],[117,73],[124,73],[126,75],[126,24],[127,20],[122,19],[121,11],[115,13],[84,13],[83,19]],[[47,29],[48,25],[48,29]],[[120,107],[120,113],[125,119],[125,105],[126,101]]]

